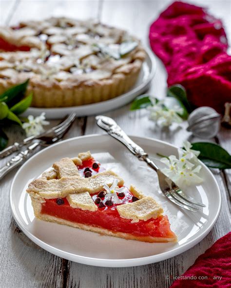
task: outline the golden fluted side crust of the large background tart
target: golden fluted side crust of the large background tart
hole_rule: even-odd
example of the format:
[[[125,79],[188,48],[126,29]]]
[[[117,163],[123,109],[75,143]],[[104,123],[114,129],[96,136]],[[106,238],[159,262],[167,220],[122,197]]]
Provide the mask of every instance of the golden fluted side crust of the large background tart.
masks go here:
[[[58,84],[47,87],[42,82],[33,83],[30,80],[26,94],[33,92],[31,106],[36,108],[72,107],[98,103],[122,95],[135,85],[142,66],[142,61],[136,59],[128,73],[116,73],[111,78],[102,80],[88,80],[81,85],[61,87]],[[25,81],[21,79],[0,79],[0,94],[12,86]]]

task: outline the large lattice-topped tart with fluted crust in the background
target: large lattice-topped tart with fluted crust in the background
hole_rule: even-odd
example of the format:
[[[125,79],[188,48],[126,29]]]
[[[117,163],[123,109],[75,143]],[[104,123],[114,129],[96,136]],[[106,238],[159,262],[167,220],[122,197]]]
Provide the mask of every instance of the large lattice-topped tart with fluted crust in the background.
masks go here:
[[[135,84],[145,57],[138,39],[93,20],[20,22],[0,27],[0,93],[30,79],[32,107],[101,102]]]

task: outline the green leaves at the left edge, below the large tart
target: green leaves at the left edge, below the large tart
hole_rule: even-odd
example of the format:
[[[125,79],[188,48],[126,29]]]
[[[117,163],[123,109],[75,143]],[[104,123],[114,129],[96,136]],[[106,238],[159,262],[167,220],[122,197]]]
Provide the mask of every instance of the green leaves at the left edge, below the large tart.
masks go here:
[[[32,102],[33,94],[25,97],[29,80],[16,85],[0,95],[0,150],[8,143],[8,137],[2,130],[7,123],[15,122],[22,125],[19,115],[22,114]]]

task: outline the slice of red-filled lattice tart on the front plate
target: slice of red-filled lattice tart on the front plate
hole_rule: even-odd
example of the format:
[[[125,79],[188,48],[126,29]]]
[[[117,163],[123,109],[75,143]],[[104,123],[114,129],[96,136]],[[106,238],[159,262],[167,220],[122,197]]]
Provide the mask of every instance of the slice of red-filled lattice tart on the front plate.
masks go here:
[[[89,151],[55,162],[27,192],[41,220],[125,239],[177,241],[162,207],[135,186],[124,186]]]

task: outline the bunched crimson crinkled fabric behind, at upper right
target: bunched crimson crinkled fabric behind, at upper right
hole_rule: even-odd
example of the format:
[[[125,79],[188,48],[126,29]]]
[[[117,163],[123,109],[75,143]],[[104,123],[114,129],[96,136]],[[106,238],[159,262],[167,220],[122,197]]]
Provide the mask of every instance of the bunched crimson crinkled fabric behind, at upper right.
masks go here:
[[[231,56],[219,19],[176,1],[151,25],[149,39],[166,67],[168,85],[182,84],[193,105],[222,112],[231,102]]]

